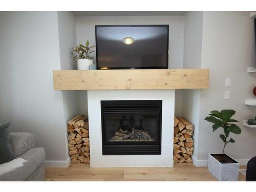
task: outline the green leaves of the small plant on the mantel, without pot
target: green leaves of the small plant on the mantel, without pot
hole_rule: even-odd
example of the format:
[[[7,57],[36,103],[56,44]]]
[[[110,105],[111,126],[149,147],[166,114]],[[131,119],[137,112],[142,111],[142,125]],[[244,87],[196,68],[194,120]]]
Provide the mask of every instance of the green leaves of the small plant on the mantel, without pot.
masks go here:
[[[73,59],[92,59],[91,53],[95,52],[91,49],[96,46],[89,47],[89,41],[86,41],[86,46],[79,44],[79,46],[71,48],[71,54],[75,55]]]

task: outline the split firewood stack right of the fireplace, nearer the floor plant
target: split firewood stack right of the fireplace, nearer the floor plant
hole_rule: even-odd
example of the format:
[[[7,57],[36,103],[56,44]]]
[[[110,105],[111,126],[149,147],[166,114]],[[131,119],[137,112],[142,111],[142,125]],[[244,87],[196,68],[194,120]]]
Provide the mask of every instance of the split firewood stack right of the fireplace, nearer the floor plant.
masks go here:
[[[174,119],[174,163],[192,163],[194,125],[182,117]]]

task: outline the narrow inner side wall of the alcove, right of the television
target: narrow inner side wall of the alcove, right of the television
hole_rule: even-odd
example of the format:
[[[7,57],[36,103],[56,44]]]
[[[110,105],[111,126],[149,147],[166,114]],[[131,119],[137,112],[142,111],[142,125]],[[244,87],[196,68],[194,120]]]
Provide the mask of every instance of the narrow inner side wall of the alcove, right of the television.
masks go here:
[[[201,68],[203,12],[191,11],[185,15],[184,68]],[[183,90],[182,116],[194,124],[194,153],[198,153],[200,90]]]

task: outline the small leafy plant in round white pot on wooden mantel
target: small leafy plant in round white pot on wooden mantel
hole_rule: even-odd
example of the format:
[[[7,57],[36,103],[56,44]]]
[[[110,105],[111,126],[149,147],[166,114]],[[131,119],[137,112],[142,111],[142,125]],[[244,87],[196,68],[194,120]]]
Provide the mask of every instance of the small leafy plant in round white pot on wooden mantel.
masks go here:
[[[95,46],[89,47],[89,41],[86,41],[86,46],[79,45],[76,47],[73,47],[71,49],[71,54],[75,55],[73,59],[77,59],[77,69],[78,70],[89,70],[89,66],[93,65],[93,60],[91,57],[92,51],[91,49]]]

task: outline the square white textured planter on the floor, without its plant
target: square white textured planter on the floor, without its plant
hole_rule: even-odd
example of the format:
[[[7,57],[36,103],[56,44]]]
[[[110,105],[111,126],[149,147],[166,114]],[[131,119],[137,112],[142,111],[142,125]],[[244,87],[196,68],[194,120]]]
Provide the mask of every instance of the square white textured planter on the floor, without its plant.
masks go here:
[[[220,163],[211,154],[209,154],[208,171],[211,173],[211,175],[218,179],[218,181],[238,181],[239,162]]]

